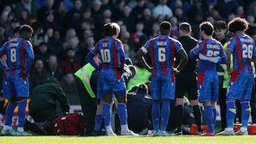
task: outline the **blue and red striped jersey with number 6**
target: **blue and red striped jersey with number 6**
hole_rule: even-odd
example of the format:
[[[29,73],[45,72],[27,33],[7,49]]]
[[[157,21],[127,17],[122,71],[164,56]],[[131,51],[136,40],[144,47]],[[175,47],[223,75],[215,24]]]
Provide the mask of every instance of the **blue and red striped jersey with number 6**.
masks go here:
[[[150,39],[141,47],[144,53],[150,53],[153,66],[152,76],[166,76],[172,71],[176,52],[182,49],[182,44],[169,36],[160,35]]]

